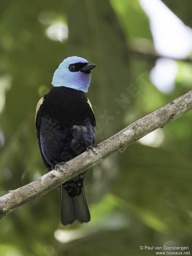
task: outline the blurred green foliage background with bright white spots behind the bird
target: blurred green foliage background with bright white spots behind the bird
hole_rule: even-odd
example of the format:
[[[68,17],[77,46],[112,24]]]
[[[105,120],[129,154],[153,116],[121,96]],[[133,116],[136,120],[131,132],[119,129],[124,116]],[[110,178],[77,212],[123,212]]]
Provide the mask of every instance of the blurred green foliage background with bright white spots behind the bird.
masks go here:
[[[68,56],[97,64],[96,143],[191,90],[191,1],[2,0],[0,196],[42,176],[38,100]],[[59,190],[0,220],[1,256],[155,255],[192,244],[192,112],[89,170],[91,222],[60,224]]]

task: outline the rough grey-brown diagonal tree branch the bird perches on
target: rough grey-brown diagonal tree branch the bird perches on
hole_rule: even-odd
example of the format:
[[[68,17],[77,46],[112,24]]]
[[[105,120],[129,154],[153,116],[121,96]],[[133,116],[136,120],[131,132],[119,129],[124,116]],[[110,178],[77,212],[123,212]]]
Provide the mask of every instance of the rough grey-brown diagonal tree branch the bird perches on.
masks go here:
[[[0,218],[3,218],[23,204],[32,203],[40,196],[43,196],[66,180],[98,164],[111,154],[124,151],[126,147],[136,140],[139,140],[157,128],[163,128],[164,125],[171,123],[191,109],[192,91],[173,100],[148,116],[144,116],[122,131],[104,140],[95,149],[96,153],[86,151],[70,160],[68,165],[62,165],[63,172],[54,169],[21,188],[9,191],[8,194],[0,197]]]

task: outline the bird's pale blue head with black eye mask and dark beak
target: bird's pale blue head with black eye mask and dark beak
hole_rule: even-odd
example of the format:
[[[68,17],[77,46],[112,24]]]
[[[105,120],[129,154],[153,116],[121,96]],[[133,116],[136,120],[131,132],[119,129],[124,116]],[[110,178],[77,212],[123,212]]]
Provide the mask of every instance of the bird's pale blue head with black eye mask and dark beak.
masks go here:
[[[68,57],[55,70],[52,85],[87,92],[91,82],[91,70],[95,67],[95,64],[90,64],[81,57]]]

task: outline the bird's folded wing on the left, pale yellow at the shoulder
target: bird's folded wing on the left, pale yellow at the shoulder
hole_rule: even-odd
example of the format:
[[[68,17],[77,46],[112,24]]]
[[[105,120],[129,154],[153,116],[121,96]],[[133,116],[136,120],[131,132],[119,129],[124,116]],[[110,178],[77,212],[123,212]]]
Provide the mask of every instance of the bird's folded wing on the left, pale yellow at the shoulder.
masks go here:
[[[43,162],[44,162],[45,166],[47,167],[47,169],[52,170],[51,165],[48,164],[47,161],[45,160],[45,157],[44,157],[44,155],[43,155],[42,148],[41,148],[40,126],[41,126],[41,109],[42,109],[43,101],[44,101],[44,97],[42,97],[42,98],[38,101],[37,107],[36,107],[36,117],[35,117],[36,134],[37,134],[37,141],[38,141],[39,150],[40,150],[40,153],[41,153],[41,157],[42,157],[42,159],[43,159]]]

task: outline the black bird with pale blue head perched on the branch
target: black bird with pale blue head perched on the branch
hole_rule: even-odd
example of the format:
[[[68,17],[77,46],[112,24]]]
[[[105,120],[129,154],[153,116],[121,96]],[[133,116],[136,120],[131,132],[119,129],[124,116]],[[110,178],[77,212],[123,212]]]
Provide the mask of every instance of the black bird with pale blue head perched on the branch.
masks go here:
[[[84,152],[95,140],[95,117],[85,93],[95,64],[73,56],[60,63],[52,89],[36,107],[36,134],[50,171]],[[86,171],[60,186],[60,218],[65,226],[90,221],[83,181]]]

